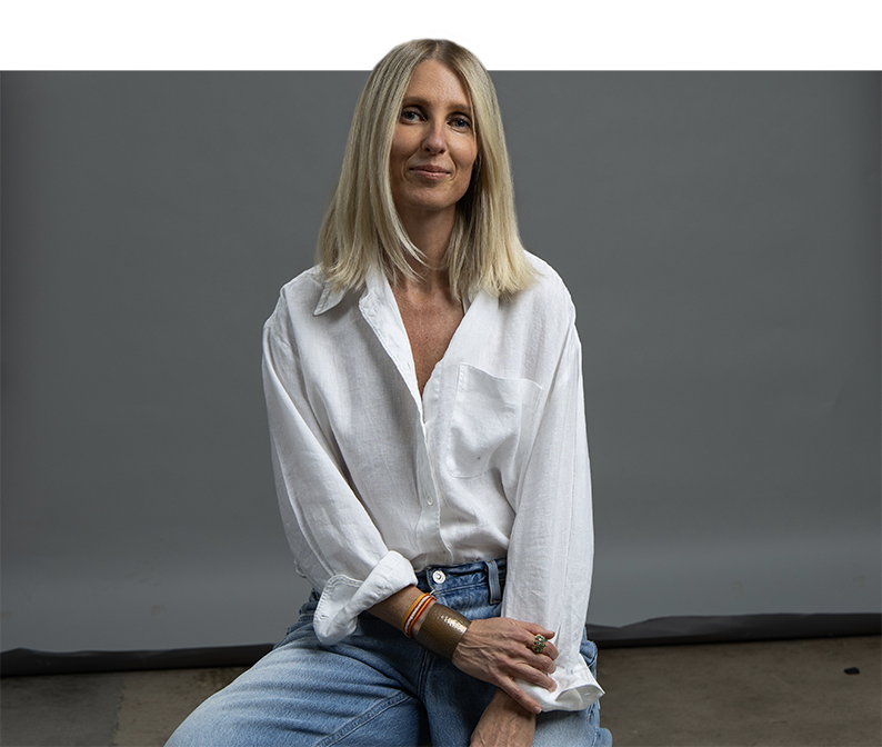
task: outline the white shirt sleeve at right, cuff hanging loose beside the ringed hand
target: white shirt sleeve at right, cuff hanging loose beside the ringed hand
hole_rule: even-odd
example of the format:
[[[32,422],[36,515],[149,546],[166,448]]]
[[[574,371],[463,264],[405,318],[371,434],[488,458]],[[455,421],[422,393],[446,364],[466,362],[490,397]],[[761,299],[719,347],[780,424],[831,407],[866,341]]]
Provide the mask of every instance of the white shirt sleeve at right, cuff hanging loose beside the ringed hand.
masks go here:
[[[579,646],[593,564],[581,346],[570,323],[517,495],[502,615],[555,631],[553,693],[519,681],[544,710],[581,710],[603,690]]]

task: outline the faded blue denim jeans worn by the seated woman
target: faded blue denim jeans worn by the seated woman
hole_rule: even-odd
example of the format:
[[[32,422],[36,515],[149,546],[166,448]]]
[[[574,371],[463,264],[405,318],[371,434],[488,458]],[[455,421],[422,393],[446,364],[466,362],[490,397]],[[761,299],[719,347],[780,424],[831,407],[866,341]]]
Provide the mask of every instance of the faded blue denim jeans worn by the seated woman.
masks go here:
[[[469,618],[499,615],[504,560],[429,568],[418,578]],[[315,605],[313,595],[284,640],[197,708],[166,747],[468,747],[492,685],[368,614],[352,635],[322,646]],[[584,640],[581,651],[594,671],[594,644]],[[533,747],[608,747],[599,709],[540,714]]]

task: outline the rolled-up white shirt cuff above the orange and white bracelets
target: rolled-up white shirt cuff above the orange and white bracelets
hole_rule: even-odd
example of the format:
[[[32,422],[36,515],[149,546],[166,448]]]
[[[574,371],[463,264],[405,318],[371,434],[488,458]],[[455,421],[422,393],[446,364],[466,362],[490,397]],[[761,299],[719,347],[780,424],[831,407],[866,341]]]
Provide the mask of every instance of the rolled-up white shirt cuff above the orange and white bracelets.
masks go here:
[[[413,566],[394,550],[390,550],[363,581],[342,574],[332,576],[315,608],[315,635],[325,646],[339,643],[354,631],[361,612],[409,586],[417,586]]]

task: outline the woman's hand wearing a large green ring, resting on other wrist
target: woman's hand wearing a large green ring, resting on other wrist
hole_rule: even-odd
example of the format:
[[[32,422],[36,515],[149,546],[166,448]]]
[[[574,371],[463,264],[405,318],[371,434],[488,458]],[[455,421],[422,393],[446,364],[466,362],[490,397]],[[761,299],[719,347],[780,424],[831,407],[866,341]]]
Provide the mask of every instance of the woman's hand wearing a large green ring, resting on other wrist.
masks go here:
[[[552,638],[554,633],[508,617],[473,620],[453,653],[453,664],[467,675],[495,685],[517,704],[538,714],[542,708],[514,681],[522,679],[549,691],[558,687],[549,677],[557,669],[558,649],[548,643],[541,654],[533,653],[537,635]]]

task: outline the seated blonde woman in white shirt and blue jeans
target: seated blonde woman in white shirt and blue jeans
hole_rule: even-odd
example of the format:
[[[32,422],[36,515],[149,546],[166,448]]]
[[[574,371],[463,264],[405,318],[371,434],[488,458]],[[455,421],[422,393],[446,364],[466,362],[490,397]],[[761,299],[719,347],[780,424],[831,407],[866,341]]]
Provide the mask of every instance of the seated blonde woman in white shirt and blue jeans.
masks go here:
[[[584,640],[574,311],[520,243],[495,92],[465,48],[414,38],[380,61],[319,250],[263,358],[315,591],[169,745],[611,744]]]

